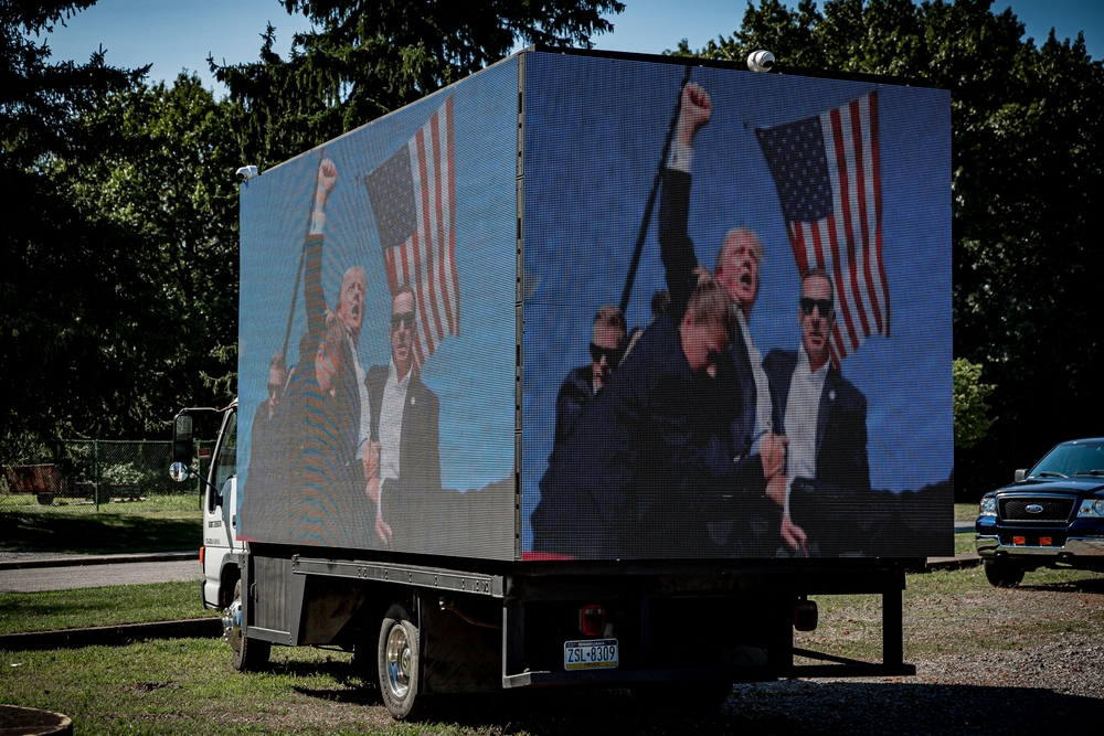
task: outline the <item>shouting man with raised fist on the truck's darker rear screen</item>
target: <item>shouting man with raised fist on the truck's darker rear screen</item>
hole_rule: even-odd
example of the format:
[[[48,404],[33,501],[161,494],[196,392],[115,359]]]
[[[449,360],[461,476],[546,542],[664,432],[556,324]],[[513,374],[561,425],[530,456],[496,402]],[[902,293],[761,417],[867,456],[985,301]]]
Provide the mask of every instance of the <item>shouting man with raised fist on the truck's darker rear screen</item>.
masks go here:
[[[688,232],[690,209],[690,169],[693,140],[712,117],[712,102],[699,85],[690,83],[682,89],[682,104],[671,142],[671,153],[664,171],[664,190],[659,201],[659,244],[664,264],[682,271],[698,265],[694,244]],[[749,230],[728,233],[716,256],[716,280],[731,302],[735,334],[731,358],[734,373],[723,401],[732,404],[731,451],[745,499],[737,515],[715,516],[709,522],[709,534],[721,554],[761,556],[773,553],[766,540],[777,534],[778,506],[765,495],[769,479],[782,473],[786,440],[775,434],[772,424],[769,387],[762,370],[762,359],[747,329],[752,307],[758,296],[760,265],[763,246]],[[733,546],[733,532],[740,519],[750,520],[752,529],[742,530],[739,550]]]

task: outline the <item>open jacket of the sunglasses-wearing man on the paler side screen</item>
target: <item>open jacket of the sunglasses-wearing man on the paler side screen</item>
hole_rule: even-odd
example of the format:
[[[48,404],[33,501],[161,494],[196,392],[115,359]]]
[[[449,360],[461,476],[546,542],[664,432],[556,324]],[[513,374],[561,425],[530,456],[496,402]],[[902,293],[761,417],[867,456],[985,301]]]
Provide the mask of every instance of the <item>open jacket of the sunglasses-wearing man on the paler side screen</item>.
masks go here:
[[[373,365],[364,377],[372,407],[373,441],[380,441],[380,412],[388,370],[386,365]],[[388,479],[381,489],[383,520],[391,525],[392,548],[400,552],[425,548],[433,499],[440,494],[439,412],[437,395],[422,383],[417,373],[413,373],[403,405],[399,479]]]

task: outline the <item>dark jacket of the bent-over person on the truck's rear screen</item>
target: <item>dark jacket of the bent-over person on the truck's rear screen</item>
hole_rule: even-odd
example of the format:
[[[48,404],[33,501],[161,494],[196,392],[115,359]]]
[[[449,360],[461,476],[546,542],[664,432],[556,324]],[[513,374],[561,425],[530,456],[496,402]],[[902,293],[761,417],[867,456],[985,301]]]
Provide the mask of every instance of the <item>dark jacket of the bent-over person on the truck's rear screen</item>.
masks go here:
[[[549,459],[533,548],[583,558],[714,556],[704,523],[734,501],[731,416],[690,371],[669,316],[645,330]]]

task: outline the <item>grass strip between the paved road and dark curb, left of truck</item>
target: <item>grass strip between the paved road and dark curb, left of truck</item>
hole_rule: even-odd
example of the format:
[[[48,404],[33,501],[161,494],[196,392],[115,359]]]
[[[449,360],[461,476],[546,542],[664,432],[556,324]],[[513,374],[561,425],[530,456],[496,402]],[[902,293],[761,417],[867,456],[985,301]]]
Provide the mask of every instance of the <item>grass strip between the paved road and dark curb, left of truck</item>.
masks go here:
[[[199,587],[191,582],[9,593],[0,601],[0,633],[217,616],[203,608]]]

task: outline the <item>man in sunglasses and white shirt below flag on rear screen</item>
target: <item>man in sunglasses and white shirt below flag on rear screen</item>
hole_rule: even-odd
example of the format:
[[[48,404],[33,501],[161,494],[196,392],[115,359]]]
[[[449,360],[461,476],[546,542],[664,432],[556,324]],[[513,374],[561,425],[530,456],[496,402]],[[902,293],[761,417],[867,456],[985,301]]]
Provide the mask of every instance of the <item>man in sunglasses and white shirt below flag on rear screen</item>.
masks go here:
[[[763,361],[775,426],[789,439],[786,476],[768,493],[783,503],[782,541],[803,555],[858,551],[864,535],[853,520],[870,495],[867,399],[829,361],[835,314],[831,279],[810,269],[802,278],[800,349]]]

